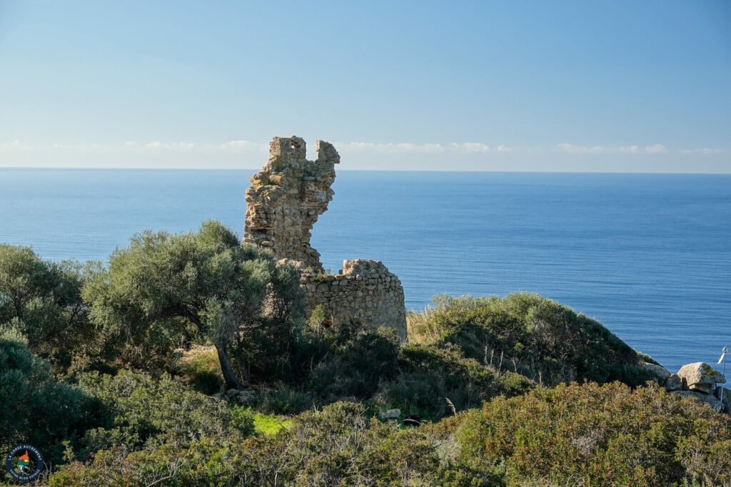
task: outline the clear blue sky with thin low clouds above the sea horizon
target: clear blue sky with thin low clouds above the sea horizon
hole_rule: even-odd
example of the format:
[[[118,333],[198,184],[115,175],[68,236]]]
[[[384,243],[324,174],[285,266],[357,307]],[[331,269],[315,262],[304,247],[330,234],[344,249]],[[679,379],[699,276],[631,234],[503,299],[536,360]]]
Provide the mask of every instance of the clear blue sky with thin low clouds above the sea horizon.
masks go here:
[[[0,0],[0,166],[731,172],[730,5]]]

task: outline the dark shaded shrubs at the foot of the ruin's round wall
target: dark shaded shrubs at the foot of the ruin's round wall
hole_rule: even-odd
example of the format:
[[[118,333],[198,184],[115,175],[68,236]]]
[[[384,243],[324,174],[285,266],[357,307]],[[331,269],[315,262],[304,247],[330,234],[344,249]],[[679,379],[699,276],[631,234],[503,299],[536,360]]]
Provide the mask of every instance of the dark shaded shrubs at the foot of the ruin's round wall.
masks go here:
[[[264,388],[257,407],[296,414],[338,400],[371,401],[425,418],[477,407],[493,396],[523,394],[534,386],[522,375],[466,358],[455,345],[401,347],[391,329],[358,321],[309,326],[295,342],[288,382]]]

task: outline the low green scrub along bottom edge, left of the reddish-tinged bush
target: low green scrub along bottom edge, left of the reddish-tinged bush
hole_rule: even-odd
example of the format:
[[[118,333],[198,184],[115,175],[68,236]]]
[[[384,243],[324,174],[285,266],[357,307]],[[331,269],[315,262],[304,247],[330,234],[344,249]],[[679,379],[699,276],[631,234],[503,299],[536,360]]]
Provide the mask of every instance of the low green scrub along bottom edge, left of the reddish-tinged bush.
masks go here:
[[[273,436],[103,451],[61,468],[49,485],[480,485],[438,448],[428,429],[397,429],[368,418],[360,404],[338,402]]]

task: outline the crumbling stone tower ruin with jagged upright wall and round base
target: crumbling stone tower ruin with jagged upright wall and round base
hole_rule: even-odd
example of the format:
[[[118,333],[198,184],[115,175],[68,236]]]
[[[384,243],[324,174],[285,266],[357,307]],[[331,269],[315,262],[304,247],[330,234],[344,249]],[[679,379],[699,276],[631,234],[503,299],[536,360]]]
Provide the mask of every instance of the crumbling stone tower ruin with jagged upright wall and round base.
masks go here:
[[[320,254],[311,247],[311,230],[335,193],[335,164],[340,156],[332,144],[317,141],[317,160],[306,158],[300,137],[274,137],[269,160],[249,177],[243,242],[270,248],[276,258],[295,261],[307,299],[307,315],[316,307],[325,324],[337,326],[357,318],[374,328],[390,326],[406,339],[404,288],[381,261],[346,260],[337,275],[322,269]]]

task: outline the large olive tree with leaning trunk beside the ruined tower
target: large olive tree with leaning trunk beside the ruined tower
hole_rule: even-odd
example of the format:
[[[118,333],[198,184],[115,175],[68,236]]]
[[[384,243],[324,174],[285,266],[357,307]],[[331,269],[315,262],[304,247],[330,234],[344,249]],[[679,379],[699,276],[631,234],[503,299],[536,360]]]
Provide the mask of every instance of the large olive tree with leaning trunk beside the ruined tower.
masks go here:
[[[145,340],[153,326],[183,321],[216,345],[227,388],[246,388],[249,377],[230,349],[262,328],[291,328],[303,296],[292,265],[277,266],[270,250],[240,245],[218,221],[197,232],[143,231],[117,248],[109,266],[83,290],[91,319],[105,331]]]

